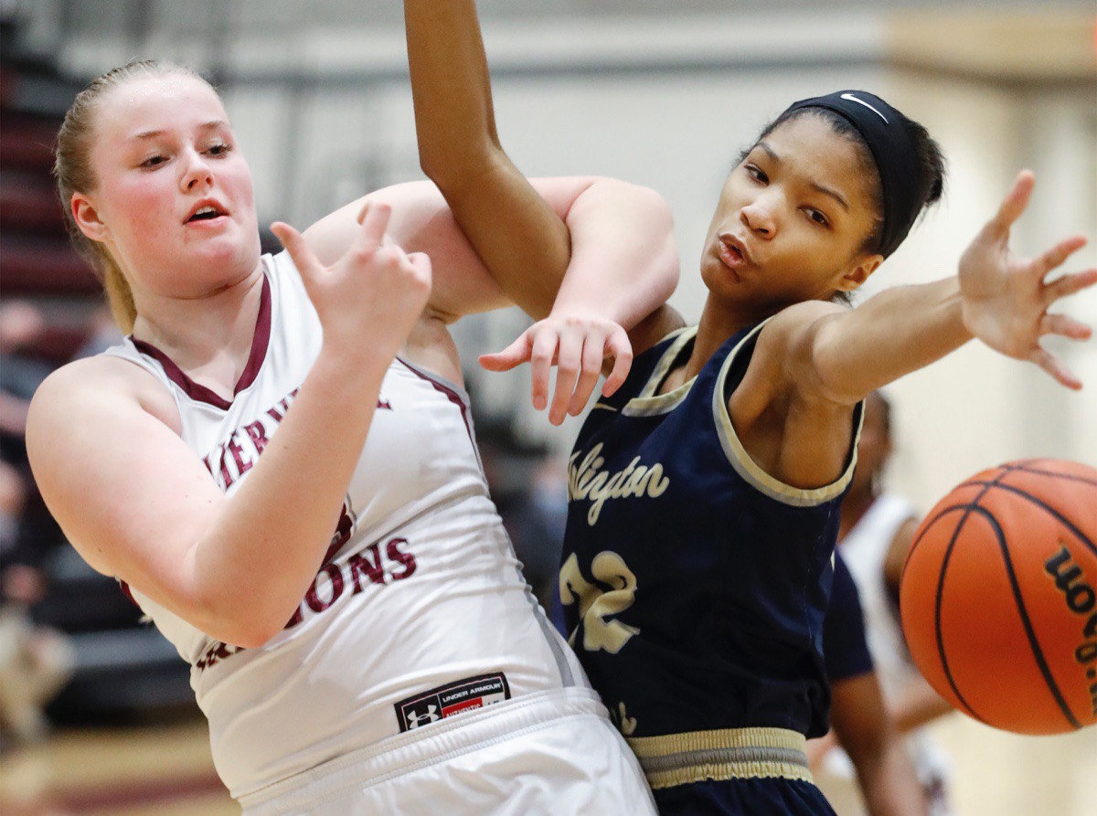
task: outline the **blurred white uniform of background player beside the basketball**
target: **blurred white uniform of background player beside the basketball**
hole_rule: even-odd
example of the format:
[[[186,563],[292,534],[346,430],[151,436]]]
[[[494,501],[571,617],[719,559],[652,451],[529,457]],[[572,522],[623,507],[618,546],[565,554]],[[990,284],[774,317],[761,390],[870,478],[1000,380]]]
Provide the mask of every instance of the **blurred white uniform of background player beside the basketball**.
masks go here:
[[[884,560],[900,526],[917,518],[914,505],[900,496],[884,494],[872,502],[864,515],[838,544],[841,557],[857,585],[864,612],[864,634],[872,655],[884,701],[894,703],[907,685],[919,677],[906,648],[898,610],[884,580]],[[943,772],[943,758],[931,745],[925,728],[916,728],[906,738],[907,749],[919,778]]]

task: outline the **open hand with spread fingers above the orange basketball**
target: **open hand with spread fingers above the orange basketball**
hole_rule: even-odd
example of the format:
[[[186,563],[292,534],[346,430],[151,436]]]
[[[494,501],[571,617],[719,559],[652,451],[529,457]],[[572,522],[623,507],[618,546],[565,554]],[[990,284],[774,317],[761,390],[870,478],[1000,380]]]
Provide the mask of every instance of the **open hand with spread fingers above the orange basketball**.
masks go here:
[[[1086,239],[1074,236],[1042,254],[1022,259],[1009,251],[1009,229],[1025,212],[1036,179],[1022,171],[1006,195],[998,213],[968,246],[960,258],[960,294],[968,330],[992,349],[1028,360],[1067,388],[1082,382],[1050,351],[1040,345],[1044,335],[1086,340],[1088,326],[1066,315],[1051,314],[1055,301],[1097,283],[1097,269],[1064,274],[1047,281]]]

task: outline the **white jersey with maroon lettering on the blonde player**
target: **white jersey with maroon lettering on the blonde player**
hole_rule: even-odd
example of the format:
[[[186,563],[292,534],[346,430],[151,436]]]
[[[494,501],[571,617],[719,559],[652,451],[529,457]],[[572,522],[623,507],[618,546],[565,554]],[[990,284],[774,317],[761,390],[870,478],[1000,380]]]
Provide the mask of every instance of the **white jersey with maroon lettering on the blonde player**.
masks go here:
[[[276,433],[321,340],[289,256],[262,262],[251,358],[231,403],[140,341],[106,352],[171,392],[183,441],[228,495]],[[297,500],[309,500],[308,485]],[[586,685],[522,579],[459,386],[389,365],[343,509],[297,612],[259,648],[217,642],[133,592],[191,664],[234,796],[461,711]]]

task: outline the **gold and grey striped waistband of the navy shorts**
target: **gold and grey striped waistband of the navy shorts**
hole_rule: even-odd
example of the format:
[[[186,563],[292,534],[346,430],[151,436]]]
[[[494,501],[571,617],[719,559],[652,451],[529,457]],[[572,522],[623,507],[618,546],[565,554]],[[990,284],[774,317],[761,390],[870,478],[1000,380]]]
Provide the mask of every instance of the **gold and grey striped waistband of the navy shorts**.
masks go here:
[[[814,782],[804,735],[787,728],[721,728],[627,743],[653,790],[759,777]]]

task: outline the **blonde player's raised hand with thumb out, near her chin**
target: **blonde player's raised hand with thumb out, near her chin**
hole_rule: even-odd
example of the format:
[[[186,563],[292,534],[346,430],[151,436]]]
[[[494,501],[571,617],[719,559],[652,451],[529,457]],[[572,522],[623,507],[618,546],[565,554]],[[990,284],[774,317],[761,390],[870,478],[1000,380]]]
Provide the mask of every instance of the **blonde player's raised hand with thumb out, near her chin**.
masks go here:
[[[271,229],[290,252],[324,327],[325,345],[365,349],[394,356],[430,296],[430,259],[407,254],[385,236],[392,207],[366,204],[362,227],[332,265],[317,260],[305,238],[289,224]]]

